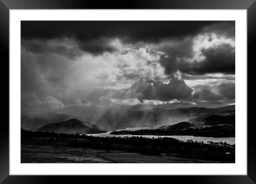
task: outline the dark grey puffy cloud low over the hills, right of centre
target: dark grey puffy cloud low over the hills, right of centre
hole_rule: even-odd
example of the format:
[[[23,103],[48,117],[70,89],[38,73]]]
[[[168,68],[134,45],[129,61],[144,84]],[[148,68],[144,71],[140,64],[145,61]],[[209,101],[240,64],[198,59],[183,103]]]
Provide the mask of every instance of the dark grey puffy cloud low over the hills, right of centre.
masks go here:
[[[136,82],[132,89],[139,93],[140,99],[157,99],[169,101],[172,99],[187,99],[191,97],[193,89],[183,80],[173,78],[168,84],[162,82],[151,83]]]

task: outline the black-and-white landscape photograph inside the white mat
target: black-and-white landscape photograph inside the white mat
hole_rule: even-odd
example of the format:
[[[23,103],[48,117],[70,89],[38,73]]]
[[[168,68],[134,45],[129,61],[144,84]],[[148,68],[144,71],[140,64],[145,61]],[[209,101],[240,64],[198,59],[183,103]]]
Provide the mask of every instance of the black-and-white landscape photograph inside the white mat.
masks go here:
[[[235,163],[235,21],[20,24],[21,163]]]

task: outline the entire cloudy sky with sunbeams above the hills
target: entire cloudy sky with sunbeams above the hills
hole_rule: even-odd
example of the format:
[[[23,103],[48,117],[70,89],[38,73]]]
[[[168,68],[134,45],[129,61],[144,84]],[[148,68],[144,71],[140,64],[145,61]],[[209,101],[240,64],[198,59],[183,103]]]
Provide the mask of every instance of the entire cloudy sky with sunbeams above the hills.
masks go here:
[[[21,113],[235,103],[235,21],[22,21]]]

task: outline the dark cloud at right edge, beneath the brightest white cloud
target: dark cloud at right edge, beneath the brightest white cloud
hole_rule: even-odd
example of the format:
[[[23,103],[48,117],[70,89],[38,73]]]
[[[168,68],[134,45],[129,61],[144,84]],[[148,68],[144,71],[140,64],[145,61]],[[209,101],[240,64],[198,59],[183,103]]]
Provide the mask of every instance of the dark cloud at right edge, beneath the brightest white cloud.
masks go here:
[[[166,74],[177,70],[190,75],[204,75],[206,73],[235,74],[235,48],[229,44],[218,47],[210,47],[201,50],[205,56],[203,61],[177,60],[176,52],[170,56],[162,55],[159,62],[165,69]]]

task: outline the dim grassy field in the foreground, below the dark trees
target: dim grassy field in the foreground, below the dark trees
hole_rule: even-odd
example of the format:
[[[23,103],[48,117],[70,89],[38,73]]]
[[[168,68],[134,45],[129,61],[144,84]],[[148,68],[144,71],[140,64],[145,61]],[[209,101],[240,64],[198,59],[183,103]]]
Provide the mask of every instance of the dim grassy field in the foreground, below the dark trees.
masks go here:
[[[51,145],[21,144],[21,163],[219,163],[176,157]]]

